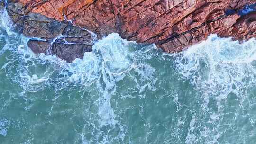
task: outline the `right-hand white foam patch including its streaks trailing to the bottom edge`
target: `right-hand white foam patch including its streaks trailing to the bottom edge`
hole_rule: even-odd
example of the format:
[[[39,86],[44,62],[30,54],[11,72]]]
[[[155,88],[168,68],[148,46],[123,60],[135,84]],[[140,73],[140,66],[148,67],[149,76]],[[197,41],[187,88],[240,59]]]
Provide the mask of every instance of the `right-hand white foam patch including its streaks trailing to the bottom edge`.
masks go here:
[[[206,41],[173,56],[177,72],[182,79],[189,80],[195,89],[202,93],[201,108],[205,115],[210,115],[205,118],[209,120],[203,124],[201,135],[193,132],[193,129],[200,125],[195,126],[196,119],[192,119],[186,144],[203,140],[206,144],[218,143],[219,137],[225,133],[225,129],[220,125],[225,122],[223,115],[226,114],[224,110],[227,107],[228,95],[236,95],[240,107],[247,107],[247,104],[244,106],[243,103],[248,99],[247,90],[255,87],[256,40],[252,38],[240,44],[231,38],[210,35]],[[216,100],[216,111],[209,108],[210,99]],[[241,114],[237,113],[236,117],[239,115]]]

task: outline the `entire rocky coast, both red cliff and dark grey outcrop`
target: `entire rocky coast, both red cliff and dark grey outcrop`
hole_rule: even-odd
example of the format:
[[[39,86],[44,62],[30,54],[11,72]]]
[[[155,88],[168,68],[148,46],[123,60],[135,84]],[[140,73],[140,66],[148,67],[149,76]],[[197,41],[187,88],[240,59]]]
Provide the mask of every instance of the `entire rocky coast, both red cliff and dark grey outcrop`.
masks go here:
[[[34,52],[68,62],[112,32],[169,53],[211,33],[256,37],[256,0],[9,0],[7,10],[18,31],[43,39],[29,42]]]

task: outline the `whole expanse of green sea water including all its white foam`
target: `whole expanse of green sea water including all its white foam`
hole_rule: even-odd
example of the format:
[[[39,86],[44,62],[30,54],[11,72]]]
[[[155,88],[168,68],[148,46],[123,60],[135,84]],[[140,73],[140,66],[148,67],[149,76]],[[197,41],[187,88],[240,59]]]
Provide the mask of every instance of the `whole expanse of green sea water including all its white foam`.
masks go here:
[[[83,59],[33,54],[0,14],[0,144],[256,144],[256,40],[179,54],[110,34]]]

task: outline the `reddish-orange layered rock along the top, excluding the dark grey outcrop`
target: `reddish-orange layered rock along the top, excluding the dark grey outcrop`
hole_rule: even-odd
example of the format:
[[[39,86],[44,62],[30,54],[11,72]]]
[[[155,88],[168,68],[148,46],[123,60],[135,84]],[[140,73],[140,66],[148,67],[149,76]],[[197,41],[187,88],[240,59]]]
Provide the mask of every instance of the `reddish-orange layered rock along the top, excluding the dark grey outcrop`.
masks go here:
[[[16,0],[25,11],[39,13],[96,33],[117,32],[138,43],[155,43],[178,52],[212,33],[247,40],[256,36],[256,12],[238,11],[256,0]],[[232,15],[225,11],[233,9]]]

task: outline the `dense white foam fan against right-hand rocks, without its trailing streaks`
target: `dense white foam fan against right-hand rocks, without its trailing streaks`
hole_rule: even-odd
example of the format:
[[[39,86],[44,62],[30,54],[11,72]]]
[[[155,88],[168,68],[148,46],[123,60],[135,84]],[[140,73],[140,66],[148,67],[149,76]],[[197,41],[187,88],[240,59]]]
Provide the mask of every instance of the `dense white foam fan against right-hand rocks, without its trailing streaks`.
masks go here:
[[[211,35],[201,44],[194,45],[177,57],[176,65],[183,78],[198,88],[208,88],[211,93],[226,95],[245,86],[243,79],[254,78],[256,69],[256,41],[250,39],[239,44],[231,38]],[[223,96],[225,97],[225,96]],[[219,99],[221,94],[219,94]]]

